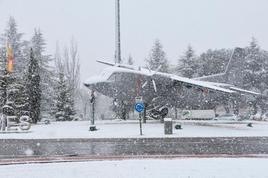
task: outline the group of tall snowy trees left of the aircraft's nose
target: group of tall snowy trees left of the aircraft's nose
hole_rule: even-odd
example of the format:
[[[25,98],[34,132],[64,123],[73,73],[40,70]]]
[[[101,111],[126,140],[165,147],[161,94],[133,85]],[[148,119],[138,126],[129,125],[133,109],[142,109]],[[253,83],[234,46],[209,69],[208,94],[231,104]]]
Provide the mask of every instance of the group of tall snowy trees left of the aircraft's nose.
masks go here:
[[[55,55],[50,55],[45,53],[40,29],[33,30],[30,40],[23,37],[10,17],[0,38],[1,113],[27,115],[33,123],[42,118],[73,120],[80,78],[76,42],[71,40],[62,53],[57,46]],[[13,58],[13,71],[7,70],[8,55]]]

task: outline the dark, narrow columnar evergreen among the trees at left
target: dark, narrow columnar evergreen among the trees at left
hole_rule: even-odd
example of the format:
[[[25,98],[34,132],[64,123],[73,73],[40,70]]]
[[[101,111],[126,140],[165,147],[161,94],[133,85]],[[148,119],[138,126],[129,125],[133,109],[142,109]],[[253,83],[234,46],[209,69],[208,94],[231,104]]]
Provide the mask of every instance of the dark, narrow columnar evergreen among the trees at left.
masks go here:
[[[33,123],[40,121],[41,89],[40,68],[33,50],[30,51],[30,63],[27,73],[26,88],[29,103],[29,115]]]

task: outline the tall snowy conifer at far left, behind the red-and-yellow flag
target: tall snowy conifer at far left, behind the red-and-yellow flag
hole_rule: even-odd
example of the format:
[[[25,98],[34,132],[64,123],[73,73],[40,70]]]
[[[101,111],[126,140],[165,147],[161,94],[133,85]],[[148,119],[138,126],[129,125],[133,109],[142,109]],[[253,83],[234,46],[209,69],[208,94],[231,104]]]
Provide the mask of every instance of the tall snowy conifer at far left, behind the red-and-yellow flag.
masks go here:
[[[27,65],[27,59],[23,51],[28,42],[22,41],[22,33],[18,33],[17,24],[13,17],[9,18],[5,32],[1,35],[1,106],[6,105],[13,108],[10,115],[27,114],[28,104],[26,100],[24,72]],[[14,71],[7,72],[7,46],[13,51]]]

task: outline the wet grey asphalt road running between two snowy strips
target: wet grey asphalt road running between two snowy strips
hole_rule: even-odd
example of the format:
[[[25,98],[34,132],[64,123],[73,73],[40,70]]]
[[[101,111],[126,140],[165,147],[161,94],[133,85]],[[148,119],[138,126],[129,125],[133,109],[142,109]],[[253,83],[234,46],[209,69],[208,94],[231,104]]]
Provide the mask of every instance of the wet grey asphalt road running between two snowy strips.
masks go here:
[[[266,154],[268,137],[0,140],[0,158]]]

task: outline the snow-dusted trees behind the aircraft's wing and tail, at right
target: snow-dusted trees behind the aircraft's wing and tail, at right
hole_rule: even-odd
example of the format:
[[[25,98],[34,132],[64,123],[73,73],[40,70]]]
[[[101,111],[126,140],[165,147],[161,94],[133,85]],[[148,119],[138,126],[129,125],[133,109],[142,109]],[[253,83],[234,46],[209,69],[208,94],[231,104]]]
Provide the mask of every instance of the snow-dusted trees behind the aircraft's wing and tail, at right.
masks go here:
[[[166,57],[163,45],[159,40],[156,40],[146,59],[146,63],[152,70],[156,70],[161,66],[160,72],[173,73],[187,78],[198,78],[225,72],[233,51],[234,49],[232,48],[208,49],[206,52],[197,55],[193,47],[189,45],[183,55],[178,57],[177,64],[171,65]],[[237,57],[235,59],[237,61],[232,61],[232,63],[239,61],[240,65],[229,64],[232,73],[241,76],[230,78],[230,84],[268,96],[268,52],[260,47],[254,37],[248,46],[243,47],[243,51],[245,53],[243,56]],[[228,98],[225,101],[224,98],[221,98],[220,100],[221,104],[228,104],[230,99]],[[268,109],[266,99],[260,97],[249,95],[242,98],[232,98],[232,100],[240,103],[241,107],[250,107],[253,110],[253,114],[256,114],[258,110],[264,114]],[[193,108],[194,103],[196,101],[189,103],[190,106],[188,107]],[[216,107],[219,101],[210,101],[209,103]],[[245,106],[243,103],[247,105]],[[200,108],[206,105],[206,103],[201,104]],[[184,107],[183,105],[181,106],[181,108]],[[229,112],[228,108],[227,112]]]

